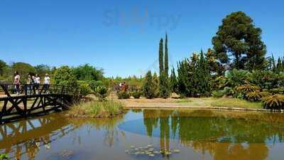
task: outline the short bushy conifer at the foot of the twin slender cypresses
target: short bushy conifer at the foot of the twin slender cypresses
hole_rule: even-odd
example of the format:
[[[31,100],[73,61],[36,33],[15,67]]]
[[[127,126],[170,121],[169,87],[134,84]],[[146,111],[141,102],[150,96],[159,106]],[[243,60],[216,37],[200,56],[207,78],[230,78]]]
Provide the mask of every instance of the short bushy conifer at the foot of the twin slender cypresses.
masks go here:
[[[160,97],[167,98],[170,97],[170,83],[168,80],[168,75],[165,71],[160,75]]]

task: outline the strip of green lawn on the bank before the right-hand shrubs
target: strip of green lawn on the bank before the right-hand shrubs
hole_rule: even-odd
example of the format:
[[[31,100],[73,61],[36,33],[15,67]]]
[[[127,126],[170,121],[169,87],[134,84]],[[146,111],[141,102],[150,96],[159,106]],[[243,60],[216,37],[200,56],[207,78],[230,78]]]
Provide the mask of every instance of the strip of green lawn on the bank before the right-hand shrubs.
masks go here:
[[[236,107],[236,108],[254,108],[261,109],[261,102],[248,102],[237,98],[216,98],[210,104],[212,107]]]

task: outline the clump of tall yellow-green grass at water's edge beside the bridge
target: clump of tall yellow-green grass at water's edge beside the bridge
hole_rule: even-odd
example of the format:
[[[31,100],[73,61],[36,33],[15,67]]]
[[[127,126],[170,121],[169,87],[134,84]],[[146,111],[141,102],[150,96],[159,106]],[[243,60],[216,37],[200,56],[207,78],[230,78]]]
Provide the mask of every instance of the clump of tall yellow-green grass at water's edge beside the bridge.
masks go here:
[[[124,113],[124,105],[121,102],[114,102],[112,100],[105,102],[85,102],[73,105],[67,111],[67,117],[94,117],[106,118],[115,117],[116,115]]]

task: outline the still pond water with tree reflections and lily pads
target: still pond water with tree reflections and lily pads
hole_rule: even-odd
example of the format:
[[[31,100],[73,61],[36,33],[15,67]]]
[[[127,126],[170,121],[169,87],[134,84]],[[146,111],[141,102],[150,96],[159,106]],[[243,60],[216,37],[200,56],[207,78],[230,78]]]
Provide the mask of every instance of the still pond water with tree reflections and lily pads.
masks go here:
[[[60,114],[1,125],[10,159],[283,160],[284,114],[128,110],[114,119]]]

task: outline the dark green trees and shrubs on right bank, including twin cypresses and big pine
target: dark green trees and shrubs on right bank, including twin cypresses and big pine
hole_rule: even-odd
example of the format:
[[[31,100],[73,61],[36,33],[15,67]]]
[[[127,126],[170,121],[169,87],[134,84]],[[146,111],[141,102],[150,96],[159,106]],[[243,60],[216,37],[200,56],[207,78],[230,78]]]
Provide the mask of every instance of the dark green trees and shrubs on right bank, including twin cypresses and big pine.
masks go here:
[[[266,57],[261,28],[243,12],[226,16],[212,38],[213,48],[179,61],[170,76],[167,35],[165,42],[164,51],[163,39],[159,44],[159,97],[169,97],[173,92],[180,97],[231,96],[284,109],[284,55],[277,60],[273,55]],[[149,71],[143,84],[147,98],[153,98],[157,90],[153,79]]]

